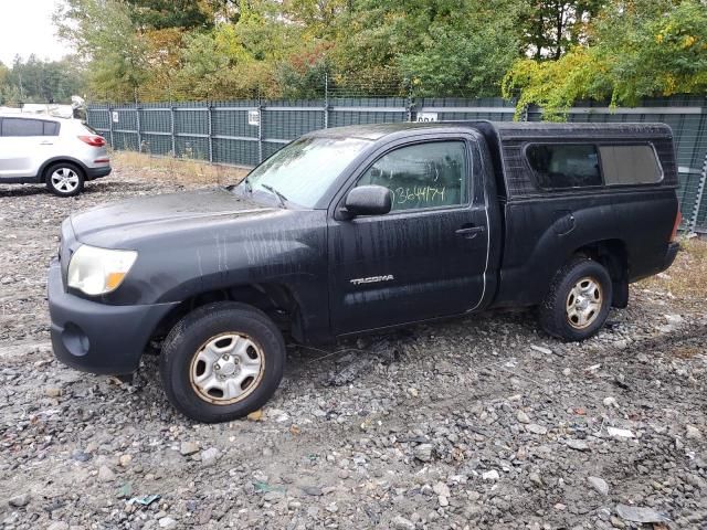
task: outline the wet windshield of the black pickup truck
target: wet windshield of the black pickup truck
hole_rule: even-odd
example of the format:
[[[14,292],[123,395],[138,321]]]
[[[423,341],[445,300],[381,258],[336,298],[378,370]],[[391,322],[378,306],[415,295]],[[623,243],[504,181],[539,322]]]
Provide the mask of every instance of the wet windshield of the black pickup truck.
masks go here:
[[[360,138],[300,138],[265,160],[241,186],[276,191],[287,201],[314,208],[336,178],[369,140]]]

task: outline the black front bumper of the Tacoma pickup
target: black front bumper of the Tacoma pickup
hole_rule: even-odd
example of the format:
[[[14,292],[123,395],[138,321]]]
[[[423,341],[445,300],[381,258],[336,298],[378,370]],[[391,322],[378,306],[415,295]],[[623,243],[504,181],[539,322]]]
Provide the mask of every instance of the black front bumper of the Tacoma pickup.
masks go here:
[[[177,303],[110,306],[64,290],[59,259],[49,269],[49,312],[54,356],[85,372],[133,373],[150,336]]]

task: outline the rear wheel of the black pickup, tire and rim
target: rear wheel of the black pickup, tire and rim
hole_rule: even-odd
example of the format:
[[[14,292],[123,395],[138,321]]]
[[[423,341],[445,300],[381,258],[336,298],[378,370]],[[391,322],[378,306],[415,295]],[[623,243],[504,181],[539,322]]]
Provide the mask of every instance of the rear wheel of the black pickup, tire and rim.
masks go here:
[[[555,275],[540,306],[540,326],[564,341],[588,339],[604,326],[612,296],[606,268],[593,259],[576,256]]]

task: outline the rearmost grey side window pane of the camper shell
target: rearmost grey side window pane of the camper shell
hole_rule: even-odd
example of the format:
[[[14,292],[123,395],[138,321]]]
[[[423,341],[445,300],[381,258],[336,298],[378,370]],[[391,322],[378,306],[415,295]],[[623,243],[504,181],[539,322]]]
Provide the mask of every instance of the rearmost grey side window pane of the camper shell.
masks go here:
[[[606,184],[654,184],[663,170],[650,145],[599,146]]]

